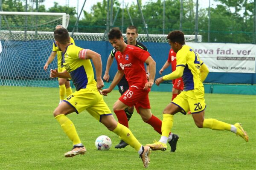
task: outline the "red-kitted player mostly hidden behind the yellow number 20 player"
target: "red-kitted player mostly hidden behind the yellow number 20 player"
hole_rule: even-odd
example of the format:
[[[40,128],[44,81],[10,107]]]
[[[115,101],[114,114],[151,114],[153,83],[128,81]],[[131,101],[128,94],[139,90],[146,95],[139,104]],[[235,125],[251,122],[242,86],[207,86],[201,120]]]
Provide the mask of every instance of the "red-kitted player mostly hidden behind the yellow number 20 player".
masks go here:
[[[169,65],[172,64],[172,72],[176,70],[176,53],[173,51],[171,48],[169,51],[168,59],[166,63],[163,65],[161,70],[159,71],[159,74],[162,75],[162,72],[169,67]],[[172,80],[172,100],[181,93],[184,89],[184,83],[182,80],[182,77],[178,79],[173,79]]]

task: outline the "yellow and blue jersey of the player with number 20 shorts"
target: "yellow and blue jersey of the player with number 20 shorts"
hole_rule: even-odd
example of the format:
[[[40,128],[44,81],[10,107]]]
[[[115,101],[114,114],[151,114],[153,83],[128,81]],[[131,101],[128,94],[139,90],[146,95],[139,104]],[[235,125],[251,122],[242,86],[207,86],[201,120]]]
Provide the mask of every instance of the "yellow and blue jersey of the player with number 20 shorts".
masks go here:
[[[201,81],[200,67],[203,63],[199,55],[188,45],[183,45],[176,55],[176,67],[185,67],[183,71],[184,91],[204,87]]]

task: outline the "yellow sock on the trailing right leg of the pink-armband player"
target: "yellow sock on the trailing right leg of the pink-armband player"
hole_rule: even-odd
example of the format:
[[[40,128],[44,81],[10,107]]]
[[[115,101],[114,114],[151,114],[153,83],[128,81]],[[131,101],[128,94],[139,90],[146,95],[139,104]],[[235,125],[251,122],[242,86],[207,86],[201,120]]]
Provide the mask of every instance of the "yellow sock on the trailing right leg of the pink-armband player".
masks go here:
[[[124,125],[117,123],[116,128],[113,130],[113,133],[116,133],[122,140],[128,143],[135,150],[140,150],[142,144],[140,144],[140,142],[131,133],[131,130]]]

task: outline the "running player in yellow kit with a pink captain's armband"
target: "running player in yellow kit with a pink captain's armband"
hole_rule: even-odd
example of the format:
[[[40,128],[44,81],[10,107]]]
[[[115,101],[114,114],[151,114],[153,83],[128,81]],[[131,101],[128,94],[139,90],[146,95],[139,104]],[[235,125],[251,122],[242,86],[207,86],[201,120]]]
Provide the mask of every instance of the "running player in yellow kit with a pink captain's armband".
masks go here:
[[[80,48],[70,42],[67,29],[59,28],[54,31],[54,39],[64,57],[64,67],[66,70],[59,73],[57,69],[51,70],[50,77],[71,78],[76,86],[76,92],[72,93],[61,102],[55,109],[53,115],[60,123],[61,128],[73,142],[73,149],[64,154],[65,157],[73,157],[84,154],[86,149],[82,144],[73,122],[67,114],[76,112],[77,114],[86,110],[95,119],[105,125],[109,130],[116,133],[139,153],[144,167],[148,167],[150,148],[143,147],[124,125],[119,124],[114,119],[110,109],[103,100],[101,89],[104,86],[102,80],[101,56],[89,49]],[[96,80],[94,80],[93,67],[96,70]]]

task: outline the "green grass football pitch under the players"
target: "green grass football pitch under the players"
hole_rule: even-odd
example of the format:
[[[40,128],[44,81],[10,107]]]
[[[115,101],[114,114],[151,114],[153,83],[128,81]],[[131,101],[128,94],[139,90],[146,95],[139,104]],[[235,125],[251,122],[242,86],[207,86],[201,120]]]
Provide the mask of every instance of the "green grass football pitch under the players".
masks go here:
[[[86,111],[69,118],[87,148],[83,156],[65,158],[72,143],[52,116],[58,105],[58,88],[0,87],[1,170],[134,170],[143,169],[137,152],[130,146],[115,149],[119,138]],[[172,94],[150,92],[151,111],[163,119],[162,111]],[[112,110],[118,91],[104,97]],[[180,136],[175,153],[151,152],[151,170],[255,170],[256,96],[206,94],[206,118],[227,123],[241,122],[249,142],[228,131],[199,129],[191,115],[175,115],[172,131]],[[115,115],[114,115],[115,116]],[[115,116],[116,118],[116,116]],[[142,144],[160,139],[153,128],[135,113],[130,129]],[[111,138],[108,151],[98,151],[95,139]]]

